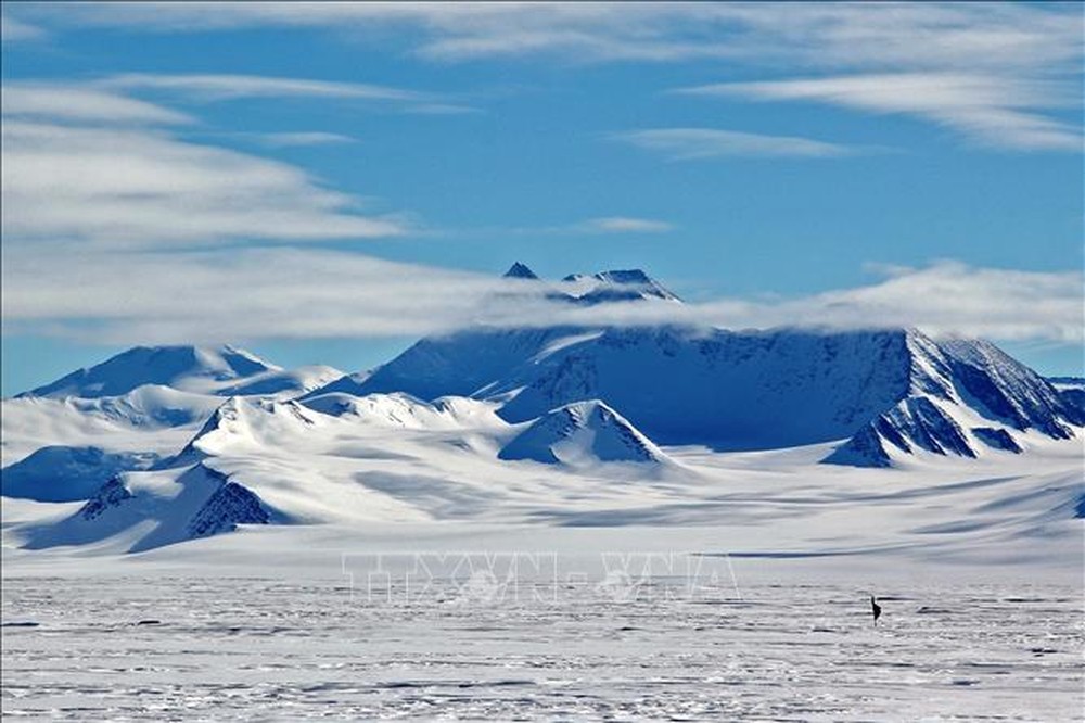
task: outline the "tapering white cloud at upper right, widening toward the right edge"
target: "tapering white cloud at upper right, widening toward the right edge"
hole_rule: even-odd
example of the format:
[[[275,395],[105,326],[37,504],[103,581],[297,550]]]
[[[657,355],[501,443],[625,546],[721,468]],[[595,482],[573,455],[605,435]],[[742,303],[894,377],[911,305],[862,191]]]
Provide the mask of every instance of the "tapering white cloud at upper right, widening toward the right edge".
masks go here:
[[[814,101],[871,113],[899,113],[953,128],[986,145],[1082,150],[1080,128],[1034,111],[1072,105],[1073,92],[1051,81],[1026,83],[961,73],[897,73],[724,83],[679,92]]]

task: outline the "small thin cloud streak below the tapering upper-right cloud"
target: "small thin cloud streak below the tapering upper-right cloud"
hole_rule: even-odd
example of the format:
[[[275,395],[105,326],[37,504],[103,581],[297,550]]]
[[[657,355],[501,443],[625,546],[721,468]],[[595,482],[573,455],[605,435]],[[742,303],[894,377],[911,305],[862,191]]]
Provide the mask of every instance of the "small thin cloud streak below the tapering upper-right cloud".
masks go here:
[[[853,152],[843,145],[809,138],[764,136],[717,128],[652,128],[615,134],[612,138],[661,153],[672,161],[720,156],[824,158]]]

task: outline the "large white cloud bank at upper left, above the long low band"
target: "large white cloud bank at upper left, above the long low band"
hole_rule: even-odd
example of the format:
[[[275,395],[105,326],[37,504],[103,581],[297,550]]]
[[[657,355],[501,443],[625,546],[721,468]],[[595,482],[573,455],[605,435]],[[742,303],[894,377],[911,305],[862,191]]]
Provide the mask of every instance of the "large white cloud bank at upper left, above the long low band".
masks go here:
[[[5,248],[289,243],[411,228],[296,166],[187,140],[179,129],[194,118],[115,91],[9,85],[3,116]]]

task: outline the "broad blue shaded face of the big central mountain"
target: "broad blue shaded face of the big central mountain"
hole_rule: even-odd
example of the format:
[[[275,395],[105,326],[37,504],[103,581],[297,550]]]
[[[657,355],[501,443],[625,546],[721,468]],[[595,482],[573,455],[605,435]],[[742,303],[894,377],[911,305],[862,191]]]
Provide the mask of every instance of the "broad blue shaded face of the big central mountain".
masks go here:
[[[906,386],[903,339],[866,332],[609,329],[523,365],[495,392],[523,421],[599,398],[660,444],[764,449],[846,436]],[[520,391],[515,391],[520,390]]]

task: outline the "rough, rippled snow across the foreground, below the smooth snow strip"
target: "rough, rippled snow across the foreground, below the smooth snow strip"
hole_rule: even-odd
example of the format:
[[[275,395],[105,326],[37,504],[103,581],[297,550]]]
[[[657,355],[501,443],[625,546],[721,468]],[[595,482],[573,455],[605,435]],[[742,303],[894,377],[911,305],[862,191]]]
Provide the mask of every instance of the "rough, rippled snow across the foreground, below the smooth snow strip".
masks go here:
[[[1072,584],[882,581],[875,627],[865,580],[751,580],[742,560],[738,593],[724,567],[697,592],[476,571],[410,595],[329,557],[323,580],[5,576],[4,716],[1081,720]]]

